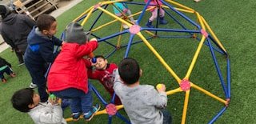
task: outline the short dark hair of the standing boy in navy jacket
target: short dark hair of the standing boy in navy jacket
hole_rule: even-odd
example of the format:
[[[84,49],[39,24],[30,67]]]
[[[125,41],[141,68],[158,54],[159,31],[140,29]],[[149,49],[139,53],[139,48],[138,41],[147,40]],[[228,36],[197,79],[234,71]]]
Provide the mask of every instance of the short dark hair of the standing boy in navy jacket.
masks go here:
[[[56,19],[49,14],[41,14],[37,18],[37,26],[40,31],[50,30],[50,26],[56,22]]]

